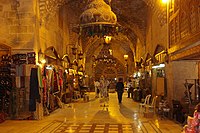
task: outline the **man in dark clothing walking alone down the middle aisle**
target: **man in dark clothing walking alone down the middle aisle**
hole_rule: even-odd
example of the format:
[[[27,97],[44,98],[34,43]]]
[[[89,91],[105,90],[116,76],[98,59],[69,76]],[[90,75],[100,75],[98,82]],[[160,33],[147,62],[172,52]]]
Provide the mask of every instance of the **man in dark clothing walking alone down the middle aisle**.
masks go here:
[[[118,95],[118,101],[119,101],[119,103],[121,103],[122,95],[124,93],[124,83],[123,83],[122,78],[119,78],[119,81],[116,84],[116,91],[117,91],[117,95]]]

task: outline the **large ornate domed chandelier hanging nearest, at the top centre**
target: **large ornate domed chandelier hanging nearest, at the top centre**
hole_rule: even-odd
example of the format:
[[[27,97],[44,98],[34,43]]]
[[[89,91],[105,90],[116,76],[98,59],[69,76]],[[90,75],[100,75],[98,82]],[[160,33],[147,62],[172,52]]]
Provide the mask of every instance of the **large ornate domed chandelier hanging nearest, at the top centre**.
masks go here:
[[[112,36],[120,31],[115,13],[104,0],[90,0],[80,15],[80,25],[75,29],[79,35],[86,37]]]

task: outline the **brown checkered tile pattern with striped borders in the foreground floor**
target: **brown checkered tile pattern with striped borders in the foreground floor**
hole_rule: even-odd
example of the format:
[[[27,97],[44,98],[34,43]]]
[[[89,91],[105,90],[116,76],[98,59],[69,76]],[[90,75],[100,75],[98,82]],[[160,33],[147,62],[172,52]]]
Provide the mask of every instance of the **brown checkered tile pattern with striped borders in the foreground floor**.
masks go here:
[[[145,121],[139,123],[134,122],[130,124],[74,124],[63,123],[61,121],[53,121],[48,126],[42,128],[42,132],[55,132],[55,133],[162,133],[162,131],[152,122]],[[50,128],[53,126],[53,128]]]

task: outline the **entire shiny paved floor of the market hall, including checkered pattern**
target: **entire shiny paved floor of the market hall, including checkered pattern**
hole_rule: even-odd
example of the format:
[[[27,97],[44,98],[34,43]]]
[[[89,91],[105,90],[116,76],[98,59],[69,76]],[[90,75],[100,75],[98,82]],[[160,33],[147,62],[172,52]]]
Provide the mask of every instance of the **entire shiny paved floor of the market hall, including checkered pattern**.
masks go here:
[[[65,104],[42,120],[6,120],[0,133],[181,133],[181,125],[168,120],[144,118],[138,103],[126,98],[118,104],[116,93],[110,93],[106,104],[88,94],[89,102],[79,99]]]

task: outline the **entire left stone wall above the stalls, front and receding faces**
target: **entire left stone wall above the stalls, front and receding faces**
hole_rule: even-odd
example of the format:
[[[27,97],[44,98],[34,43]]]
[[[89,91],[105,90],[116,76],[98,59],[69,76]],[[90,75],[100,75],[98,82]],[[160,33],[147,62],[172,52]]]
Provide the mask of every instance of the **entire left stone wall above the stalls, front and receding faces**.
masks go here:
[[[15,0],[1,0],[0,44],[10,46],[12,54],[30,51],[37,53],[40,49],[44,52],[50,46],[54,46],[61,56],[69,53],[72,17],[69,11],[61,7],[55,13],[42,16],[38,0],[18,3]]]

